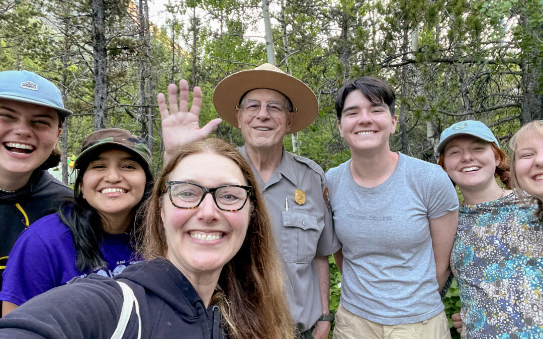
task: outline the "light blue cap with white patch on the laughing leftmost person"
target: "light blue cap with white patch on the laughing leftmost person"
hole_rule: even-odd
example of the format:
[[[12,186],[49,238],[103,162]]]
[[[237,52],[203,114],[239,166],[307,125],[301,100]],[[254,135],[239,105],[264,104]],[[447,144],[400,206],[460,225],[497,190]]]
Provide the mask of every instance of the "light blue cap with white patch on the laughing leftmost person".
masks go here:
[[[64,108],[62,95],[53,82],[28,71],[0,72],[0,98],[51,107],[62,119],[73,113]]]

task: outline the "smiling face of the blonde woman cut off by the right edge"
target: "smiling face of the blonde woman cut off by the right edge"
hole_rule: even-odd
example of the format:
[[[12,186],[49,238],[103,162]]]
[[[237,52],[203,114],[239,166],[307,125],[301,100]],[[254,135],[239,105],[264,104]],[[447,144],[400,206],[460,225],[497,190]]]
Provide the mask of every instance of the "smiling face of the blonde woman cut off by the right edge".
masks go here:
[[[516,143],[515,176],[519,186],[543,200],[543,136],[528,130]]]

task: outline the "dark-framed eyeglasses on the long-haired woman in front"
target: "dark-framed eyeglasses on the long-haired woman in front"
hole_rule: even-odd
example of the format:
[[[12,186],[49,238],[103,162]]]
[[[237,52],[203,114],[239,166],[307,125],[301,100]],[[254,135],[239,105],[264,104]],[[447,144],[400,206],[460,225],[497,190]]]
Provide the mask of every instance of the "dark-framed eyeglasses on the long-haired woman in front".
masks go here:
[[[243,185],[224,185],[207,188],[187,181],[166,181],[170,201],[178,208],[197,208],[211,193],[219,209],[234,212],[245,206],[252,187]]]

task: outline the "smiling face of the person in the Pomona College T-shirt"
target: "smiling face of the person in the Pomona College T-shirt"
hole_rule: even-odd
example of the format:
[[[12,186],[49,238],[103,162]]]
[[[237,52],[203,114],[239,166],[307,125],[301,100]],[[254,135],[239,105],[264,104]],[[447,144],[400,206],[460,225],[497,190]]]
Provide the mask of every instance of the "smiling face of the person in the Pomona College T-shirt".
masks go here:
[[[397,116],[386,104],[374,104],[359,89],[345,98],[339,133],[353,151],[388,151],[389,136],[396,130]]]

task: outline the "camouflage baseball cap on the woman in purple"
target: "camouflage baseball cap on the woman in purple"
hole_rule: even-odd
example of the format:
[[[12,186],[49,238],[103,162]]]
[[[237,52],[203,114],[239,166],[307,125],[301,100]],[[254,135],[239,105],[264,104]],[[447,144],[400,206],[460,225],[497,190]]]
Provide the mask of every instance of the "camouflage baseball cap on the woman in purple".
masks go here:
[[[83,140],[81,153],[75,159],[73,167],[81,169],[81,165],[87,163],[86,158],[94,153],[93,151],[102,148],[114,148],[115,146],[139,156],[142,160],[142,166],[150,171],[151,152],[147,147],[147,142],[123,129],[103,129],[91,133]]]

